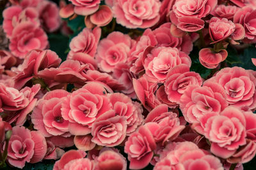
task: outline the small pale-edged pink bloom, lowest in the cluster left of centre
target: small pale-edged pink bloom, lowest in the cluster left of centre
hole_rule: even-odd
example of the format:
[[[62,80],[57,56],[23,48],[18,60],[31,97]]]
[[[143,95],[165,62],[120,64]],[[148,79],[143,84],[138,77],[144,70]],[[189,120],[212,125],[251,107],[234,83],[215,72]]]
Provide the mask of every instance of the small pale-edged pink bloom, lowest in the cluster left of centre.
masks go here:
[[[100,146],[117,146],[124,141],[126,130],[127,118],[115,116],[115,111],[110,110],[93,122],[92,141]]]

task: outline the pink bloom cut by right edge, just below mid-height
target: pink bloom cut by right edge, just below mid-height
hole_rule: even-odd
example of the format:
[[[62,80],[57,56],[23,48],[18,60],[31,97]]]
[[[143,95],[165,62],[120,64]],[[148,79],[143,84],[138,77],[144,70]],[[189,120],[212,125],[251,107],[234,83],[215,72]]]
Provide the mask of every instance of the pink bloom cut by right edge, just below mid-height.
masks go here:
[[[255,78],[250,71],[242,67],[226,67],[209,81],[214,81],[225,89],[228,104],[240,108],[247,106],[250,110],[256,108]]]

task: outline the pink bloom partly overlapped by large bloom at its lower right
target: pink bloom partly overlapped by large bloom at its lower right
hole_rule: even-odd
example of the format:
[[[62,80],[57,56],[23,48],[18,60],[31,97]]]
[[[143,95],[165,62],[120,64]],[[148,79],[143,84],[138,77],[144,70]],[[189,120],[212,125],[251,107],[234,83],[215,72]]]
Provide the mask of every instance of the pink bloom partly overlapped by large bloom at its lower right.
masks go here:
[[[200,117],[212,112],[219,114],[227,106],[225,90],[213,82],[191,85],[180,97],[180,110],[189,123],[200,122]]]

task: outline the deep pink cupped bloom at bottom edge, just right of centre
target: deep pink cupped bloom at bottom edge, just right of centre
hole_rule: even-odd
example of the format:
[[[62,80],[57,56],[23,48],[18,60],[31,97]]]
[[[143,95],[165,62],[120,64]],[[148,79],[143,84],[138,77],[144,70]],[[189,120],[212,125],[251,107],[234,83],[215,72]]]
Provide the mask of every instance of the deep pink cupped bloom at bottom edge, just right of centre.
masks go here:
[[[133,132],[125,142],[124,152],[128,154],[130,169],[143,169],[152,159],[156,149],[154,137],[145,126]]]

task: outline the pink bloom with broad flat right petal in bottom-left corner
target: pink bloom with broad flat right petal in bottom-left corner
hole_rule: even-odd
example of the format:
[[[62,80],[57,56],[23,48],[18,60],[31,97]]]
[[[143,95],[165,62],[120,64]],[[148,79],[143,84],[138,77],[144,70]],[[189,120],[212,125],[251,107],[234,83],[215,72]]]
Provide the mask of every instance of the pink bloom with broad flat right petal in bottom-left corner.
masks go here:
[[[46,153],[45,138],[38,132],[15,126],[8,145],[8,162],[22,168],[26,162],[39,162]]]

